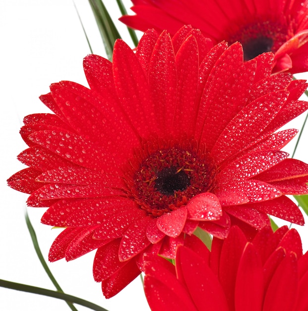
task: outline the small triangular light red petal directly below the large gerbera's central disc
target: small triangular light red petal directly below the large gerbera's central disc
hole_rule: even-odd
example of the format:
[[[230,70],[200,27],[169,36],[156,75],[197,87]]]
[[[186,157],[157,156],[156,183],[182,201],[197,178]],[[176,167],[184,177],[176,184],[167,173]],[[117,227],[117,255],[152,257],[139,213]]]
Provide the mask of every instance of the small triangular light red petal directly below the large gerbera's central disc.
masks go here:
[[[187,209],[185,206],[182,206],[177,210],[160,216],[156,221],[156,225],[166,235],[177,237],[182,233],[186,219]]]

